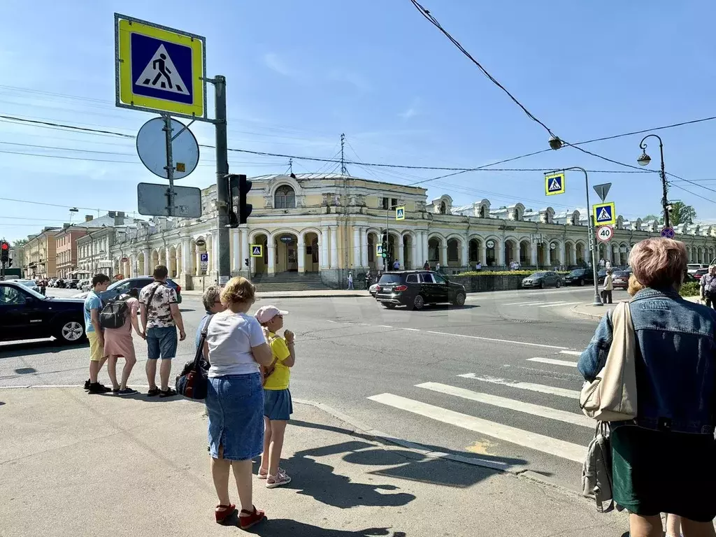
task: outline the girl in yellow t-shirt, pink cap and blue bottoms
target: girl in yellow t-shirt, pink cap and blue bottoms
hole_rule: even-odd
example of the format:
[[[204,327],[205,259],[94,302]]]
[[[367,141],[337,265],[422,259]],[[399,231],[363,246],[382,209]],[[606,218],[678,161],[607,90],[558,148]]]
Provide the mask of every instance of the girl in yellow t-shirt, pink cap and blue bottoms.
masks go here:
[[[272,356],[263,381],[263,453],[258,468],[258,478],[266,480],[266,488],[291,483],[286,470],[279,467],[286,424],[294,412],[289,391],[290,368],[296,363],[294,333],[284,330],[284,337],[277,334],[284,327],[284,315],[288,314],[276,306],[263,306],[256,311]]]

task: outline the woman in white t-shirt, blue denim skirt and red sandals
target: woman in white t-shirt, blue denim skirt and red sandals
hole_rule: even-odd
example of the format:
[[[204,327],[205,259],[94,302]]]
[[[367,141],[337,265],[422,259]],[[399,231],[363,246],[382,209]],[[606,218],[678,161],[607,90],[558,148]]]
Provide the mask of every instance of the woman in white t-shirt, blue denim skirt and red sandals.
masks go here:
[[[216,521],[251,528],[266,519],[253,506],[252,459],[263,451],[263,386],[259,365],[270,365],[271,347],[261,324],[246,311],[253,305],[256,289],[250,281],[232,278],[221,292],[226,311],[208,321],[204,356],[208,373],[206,409],[211,453],[211,476],[219,498]],[[241,513],[228,495],[228,469],[236,478]]]

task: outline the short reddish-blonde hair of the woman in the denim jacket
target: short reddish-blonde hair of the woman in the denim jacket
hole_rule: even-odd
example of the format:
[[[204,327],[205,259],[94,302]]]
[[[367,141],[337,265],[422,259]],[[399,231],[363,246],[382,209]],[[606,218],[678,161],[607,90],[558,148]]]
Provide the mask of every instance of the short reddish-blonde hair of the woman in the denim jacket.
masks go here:
[[[629,254],[629,266],[645,287],[681,284],[686,263],[686,246],[672,238],[647,238],[637,243]]]

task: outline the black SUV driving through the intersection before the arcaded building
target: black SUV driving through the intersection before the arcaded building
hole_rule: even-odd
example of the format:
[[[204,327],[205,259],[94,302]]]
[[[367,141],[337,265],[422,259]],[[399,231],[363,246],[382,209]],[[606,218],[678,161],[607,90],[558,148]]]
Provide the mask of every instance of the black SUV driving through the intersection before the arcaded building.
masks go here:
[[[425,304],[465,304],[465,286],[431,271],[397,271],[380,276],[375,299],[388,309],[407,306],[422,309]]]

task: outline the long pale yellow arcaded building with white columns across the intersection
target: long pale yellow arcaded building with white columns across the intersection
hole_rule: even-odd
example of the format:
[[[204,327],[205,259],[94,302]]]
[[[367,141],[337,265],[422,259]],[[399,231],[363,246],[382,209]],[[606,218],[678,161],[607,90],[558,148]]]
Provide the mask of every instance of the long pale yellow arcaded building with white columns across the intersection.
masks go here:
[[[276,275],[297,280],[311,274],[328,286],[384,269],[378,245],[387,233],[387,261],[415,269],[440,263],[449,274],[473,267],[500,268],[512,261],[523,268],[580,266],[589,261],[586,215],[556,213],[522,203],[493,207],[483,199],[453,206],[450,195],[427,200],[425,188],[382,183],[347,175],[262,175],[251,178],[246,225],[231,230],[232,274],[265,283]],[[216,186],[202,191],[201,218],[153,218],[117,226],[111,258],[115,273],[148,274],[166,264],[188,289],[218,278]],[[396,220],[396,207],[405,219]],[[614,238],[599,244],[598,258],[625,265],[634,243],[658,236],[657,222],[617,219]],[[690,260],[716,256],[716,227],[682,225]],[[260,246],[261,255],[251,256]]]

